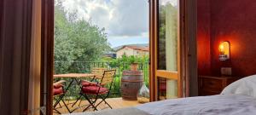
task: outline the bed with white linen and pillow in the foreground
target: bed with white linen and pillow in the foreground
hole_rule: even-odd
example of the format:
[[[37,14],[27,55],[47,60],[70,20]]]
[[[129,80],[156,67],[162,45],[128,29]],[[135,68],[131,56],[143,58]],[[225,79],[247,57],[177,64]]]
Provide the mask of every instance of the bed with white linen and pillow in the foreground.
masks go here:
[[[227,86],[220,95],[156,101],[136,107],[81,112],[72,115],[253,115],[256,114],[256,75]]]

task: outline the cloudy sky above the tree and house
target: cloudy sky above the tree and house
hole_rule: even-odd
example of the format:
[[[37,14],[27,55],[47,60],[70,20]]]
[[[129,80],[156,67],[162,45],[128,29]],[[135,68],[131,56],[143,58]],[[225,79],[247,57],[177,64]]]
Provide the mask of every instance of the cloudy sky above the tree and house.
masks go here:
[[[148,43],[148,0],[62,0],[65,9],[105,28],[111,47]]]

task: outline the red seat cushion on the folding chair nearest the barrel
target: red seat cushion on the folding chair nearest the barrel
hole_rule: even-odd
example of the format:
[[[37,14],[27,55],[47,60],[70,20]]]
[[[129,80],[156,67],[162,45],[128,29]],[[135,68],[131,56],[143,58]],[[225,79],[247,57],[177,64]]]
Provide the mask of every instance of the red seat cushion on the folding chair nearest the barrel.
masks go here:
[[[91,95],[96,95],[97,93],[99,93],[100,95],[108,93],[107,88],[99,87],[99,86],[83,87],[82,91],[83,91],[84,94],[91,94]]]

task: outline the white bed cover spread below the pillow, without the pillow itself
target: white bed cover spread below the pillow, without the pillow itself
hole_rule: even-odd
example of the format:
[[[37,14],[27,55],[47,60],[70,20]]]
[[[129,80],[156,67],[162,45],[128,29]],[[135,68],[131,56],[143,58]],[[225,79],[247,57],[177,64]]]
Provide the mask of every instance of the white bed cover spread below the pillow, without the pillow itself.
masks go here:
[[[198,96],[137,106],[152,115],[256,115],[256,99],[247,95]]]

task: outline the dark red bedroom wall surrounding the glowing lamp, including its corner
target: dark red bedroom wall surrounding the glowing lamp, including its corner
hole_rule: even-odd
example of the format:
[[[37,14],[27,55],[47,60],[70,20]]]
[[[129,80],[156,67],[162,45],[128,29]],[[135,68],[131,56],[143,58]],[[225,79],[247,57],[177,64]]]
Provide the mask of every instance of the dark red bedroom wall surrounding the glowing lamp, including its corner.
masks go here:
[[[202,2],[202,3],[201,3]],[[200,4],[205,3],[204,6]],[[232,67],[232,75],[245,77],[256,74],[256,2],[255,0],[198,0],[198,44],[201,41],[210,42],[210,74],[220,75],[221,66]],[[204,7],[210,9],[210,16],[200,14],[205,10]],[[201,16],[204,15],[204,16]],[[207,31],[201,29],[201,25],[205,25],[206,20],[210,17],[210,38],[201,37],[201,33],[208,34]],[[206,29],[208,30],[208,29]],[[204,39],[204,40],[202,40]],[[209,40],[210,39],[210,40]],[[221,41],[230,41],[230,60],[218,60],[218,44]],[[208,49],[208,46],[198,47],[199,74],[205,68],[201,66],[200,52]],[[207,56],[206,56],[207,57]],[[204,61],[209,60],[207,57]],[[208,64],[207,64],[208,65]],[[208,70],[206,69],[206,72]]]

